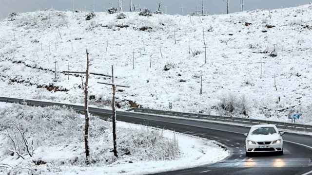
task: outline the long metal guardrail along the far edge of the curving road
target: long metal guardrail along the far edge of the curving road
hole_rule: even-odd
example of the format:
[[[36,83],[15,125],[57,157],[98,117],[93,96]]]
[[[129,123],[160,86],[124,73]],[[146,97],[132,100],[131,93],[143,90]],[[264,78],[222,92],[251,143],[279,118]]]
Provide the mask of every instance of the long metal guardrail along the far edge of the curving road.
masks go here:
[[[140,112],[140,113],[176,116],[176,117],[184,117],[184,118],[192,118],[192,119],[205,119],[205,120],[214,120],[214,121],[231,122],[231,123],[275,124],[277,127],[283,128],[283,129],[312,132],[312,125],[306,125],[306,124],[275,122],[275,121],[246,119],[246,118],[227,117],[227,116],[203,115],[203,114],[195,114],[195,113],[163,111],[163,110],[144,109],[144,108],[132,108],[132,110],[134,112]]]

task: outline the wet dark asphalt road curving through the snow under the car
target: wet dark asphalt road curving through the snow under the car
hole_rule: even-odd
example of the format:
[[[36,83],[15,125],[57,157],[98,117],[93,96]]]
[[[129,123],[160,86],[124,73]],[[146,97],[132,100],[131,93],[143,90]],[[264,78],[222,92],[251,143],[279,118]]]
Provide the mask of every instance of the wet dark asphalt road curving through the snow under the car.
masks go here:
[[[33,102],[32,104],[36,105],[59,105],[56,103]],[[73,105],[73,107],[82,109],[82,106],[78,105]],[[102,117],[111,115],[109,110],[99,108],[90,108],[90,112]],[[283,156],[245,157],[245,136],[243,133],[249,131],[248,127],[160,118],[152,115],[121,111],[117,112],[117,120],[160,127],[210,140],[217,140],[232,151],[230,157],[215,164],[160,173],[159,175],[310,175],[312,173],[311,136],[286,133],[283,136],[285,140]]]

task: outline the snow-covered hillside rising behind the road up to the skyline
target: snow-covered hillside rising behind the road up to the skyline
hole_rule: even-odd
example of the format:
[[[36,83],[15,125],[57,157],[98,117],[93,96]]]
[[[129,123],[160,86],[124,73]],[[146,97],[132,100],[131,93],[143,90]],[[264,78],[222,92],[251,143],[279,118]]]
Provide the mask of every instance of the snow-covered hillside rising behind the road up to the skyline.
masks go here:
[[[299,112],[301,123],[312,123],[311,5],[271,10],[271,15],[257,10],[142,17],[136,12],[117,19],[118,14],[96,13],[86,20],[86,14],[48,10],[2,20],[0,95],[82,103],[81,78],[67,80],[58,73],[54,82],[53,71],[55,61],[57,71],[68,65],[85,69],[88,49],[92,72],[111,74],[115,65],[117,84],[131,86],[117,92],[123,109],[129,101],[156,109],[168,109],[172,102],[176,111],[287,122],[288,114]],[[195,51],[200,54],[193,56]],[[92,104],[108,107],[111,87],[97,82],[111,79],[91,76],[90,81]]]

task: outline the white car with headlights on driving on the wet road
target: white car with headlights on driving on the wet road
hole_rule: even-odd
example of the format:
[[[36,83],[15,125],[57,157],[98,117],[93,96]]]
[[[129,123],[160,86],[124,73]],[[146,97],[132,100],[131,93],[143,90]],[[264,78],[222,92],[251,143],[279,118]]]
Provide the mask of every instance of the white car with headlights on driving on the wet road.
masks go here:
[[[284,132],[279,132],[274,124],[259,124],[251,127],[246,138],[246,156],[257,152],[277,152],[283,155]]]

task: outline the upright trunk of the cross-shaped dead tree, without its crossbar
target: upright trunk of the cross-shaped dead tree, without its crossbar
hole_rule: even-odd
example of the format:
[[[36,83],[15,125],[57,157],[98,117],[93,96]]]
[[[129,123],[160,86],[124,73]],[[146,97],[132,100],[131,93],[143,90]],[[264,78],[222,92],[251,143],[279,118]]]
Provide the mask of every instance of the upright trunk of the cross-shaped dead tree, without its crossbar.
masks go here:
[[[113,99],[112,99],[113,144],[114,144],[114,156],[118,157],[118,155],[117,155],[117,143],[116,143],[116,106],[115,106],[116,85],[114,84],[114,67],[113,67],[113,65],[112,65],[112,83],[113,83]]]

